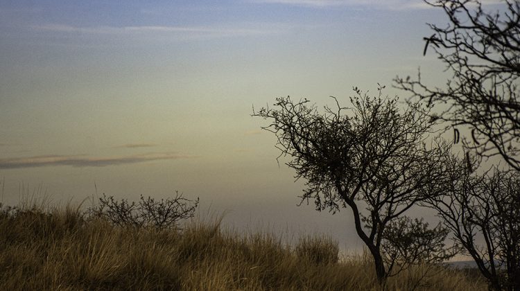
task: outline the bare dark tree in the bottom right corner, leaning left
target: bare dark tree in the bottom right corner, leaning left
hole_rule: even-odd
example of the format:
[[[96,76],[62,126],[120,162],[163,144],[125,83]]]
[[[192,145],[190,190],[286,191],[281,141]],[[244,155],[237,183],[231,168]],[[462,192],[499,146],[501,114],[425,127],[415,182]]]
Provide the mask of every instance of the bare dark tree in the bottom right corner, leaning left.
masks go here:
[[[426,191],[442,191],[433,187]],[[430,196],[424,206],[437,210],[490,289],[520,290],[520,173],[462,170],[443,188],[444,195]]]

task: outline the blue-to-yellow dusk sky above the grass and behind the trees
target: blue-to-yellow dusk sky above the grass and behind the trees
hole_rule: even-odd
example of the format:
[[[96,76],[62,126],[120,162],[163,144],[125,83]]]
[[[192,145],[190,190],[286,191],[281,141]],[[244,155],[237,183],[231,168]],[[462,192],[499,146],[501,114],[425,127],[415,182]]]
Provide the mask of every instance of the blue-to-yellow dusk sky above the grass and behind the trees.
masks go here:
[[[304,181],[252,110],[377,83],[405,100],[392,79],[419,67],[442,85],[426,23],[447,19],[419,0],[0,0],[1,201],[180,191],[227,227],[355,252],[352,213],[297,206]]]

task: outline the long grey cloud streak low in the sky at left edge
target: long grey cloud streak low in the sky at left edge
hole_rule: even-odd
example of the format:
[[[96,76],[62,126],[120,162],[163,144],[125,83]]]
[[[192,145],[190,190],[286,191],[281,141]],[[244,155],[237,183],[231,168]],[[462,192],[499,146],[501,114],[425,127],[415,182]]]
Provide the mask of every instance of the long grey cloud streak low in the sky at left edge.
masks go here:
[[[0,169],[34,168],[44,166],[104,167],[121,164],[135,164],[144,161],[165,159],[187,159],[193,155],[180,155],[172,152],[159,152],[144,155],[88,157],[85,155],[47,155],[37,157],[16,157],[0,159]]]

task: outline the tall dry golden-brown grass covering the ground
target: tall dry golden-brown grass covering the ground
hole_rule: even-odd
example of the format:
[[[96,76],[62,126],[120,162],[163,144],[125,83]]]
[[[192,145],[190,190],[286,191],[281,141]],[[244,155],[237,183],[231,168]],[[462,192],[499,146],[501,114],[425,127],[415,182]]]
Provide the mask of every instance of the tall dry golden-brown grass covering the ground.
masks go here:
[[[125,229],[84,220],[66,206],[4,211],[0,233],[0,290],[380,289],[370,257],[338,259],[329,238],[302,238],[291,248],[270,233],[223,231],[220,220],[191,222],[182,232]],[[432,266],[392,277],[387,287],[487,289],[462,272]]]

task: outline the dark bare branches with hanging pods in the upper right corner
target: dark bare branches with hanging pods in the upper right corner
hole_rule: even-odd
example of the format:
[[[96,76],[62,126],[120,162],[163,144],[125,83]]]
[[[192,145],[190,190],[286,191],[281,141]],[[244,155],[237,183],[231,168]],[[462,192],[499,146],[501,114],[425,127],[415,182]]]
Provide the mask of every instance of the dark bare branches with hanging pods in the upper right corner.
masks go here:
[[[444,104],[433,118],[451,126],[466,125],[471,139],[465,146],[480,157],[501,155],[520,170],[520,2],[503,0],[496,12],[486,12],[479,0],[425,1],[446,13],[449,24],[428,24],[433,30],[426,46],[453,73],[445,89],[417,80],[395,79],[430,105]]]

